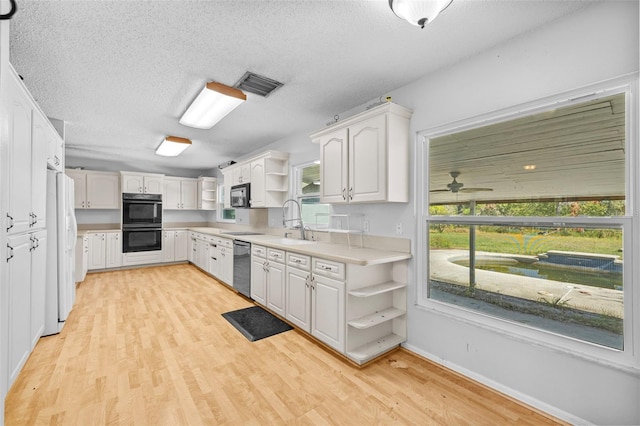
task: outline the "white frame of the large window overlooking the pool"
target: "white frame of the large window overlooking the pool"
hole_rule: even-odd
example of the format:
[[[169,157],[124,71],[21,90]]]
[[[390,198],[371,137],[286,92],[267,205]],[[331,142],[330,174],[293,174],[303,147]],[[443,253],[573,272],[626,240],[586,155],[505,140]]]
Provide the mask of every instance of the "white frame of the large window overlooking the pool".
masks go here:
[[[542,112],[550,108],[559,108],[600,98],[616,93],[626,95],[626,140],[625,149],[625,197],[624,216],[607,218],[586,217],[493,217],[493,216],[437,216],[429,214],[429,141],[450,133],[470,130],[511,120],[522,116]],[[613,365],[638,374],[640,372],[640,266],[638,262],[627,261],[623,271],[624,288],[624,349],[618,350],[578,340],[565,335],[534,328],[512,320],[489,316],[454,304],[430,299],[428,297],[429,271],[429,224],[433,220],[443,220],[454,224],[500,224],[515,223],[526,225],[549,225],[554,222],[570,226],[601,224],[620,226],[623,229],[623,250],[625,259],[637,258],[640,253],[640,212],[639,212],[639,169],[640,146],[638,141],[638,73],[581,89],[564,92],[547,98],[503,110],[486,113],[470,119],[418,131],[416,133],[416,151],[414,166],[417,179],[416,203],[418,207],[416,229],[417,247],[417,285],[416,308],[435,312],[464,323],[472,324],[508,336],[511,339],[535,342],[541,346],[569,352],[575,356]],[[630,283],[631,285],[626,285]]]

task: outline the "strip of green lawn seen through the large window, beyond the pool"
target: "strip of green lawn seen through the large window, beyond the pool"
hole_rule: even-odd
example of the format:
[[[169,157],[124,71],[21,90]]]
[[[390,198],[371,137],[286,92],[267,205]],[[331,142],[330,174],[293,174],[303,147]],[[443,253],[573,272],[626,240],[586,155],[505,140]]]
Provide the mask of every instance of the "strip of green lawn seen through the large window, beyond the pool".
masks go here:
[[[432,249],[469,249],[468,228],[429,233]],[[492,253],[536,255],[547,250],[616,255],[622,258],[622,238],[576,235],[538,235],[536,233],[503,233],[476,230],[476,250]]]

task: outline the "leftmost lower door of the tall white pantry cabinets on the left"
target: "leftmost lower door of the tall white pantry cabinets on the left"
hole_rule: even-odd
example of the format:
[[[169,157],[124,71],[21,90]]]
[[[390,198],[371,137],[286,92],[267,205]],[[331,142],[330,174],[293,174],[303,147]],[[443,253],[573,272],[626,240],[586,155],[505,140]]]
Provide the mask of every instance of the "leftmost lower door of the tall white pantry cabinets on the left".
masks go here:
[[[9,288],[8,387],[16,379],[31,352],[31,239],[29,234],[7,240]],[[4,368],[5,366],[3,366]]]

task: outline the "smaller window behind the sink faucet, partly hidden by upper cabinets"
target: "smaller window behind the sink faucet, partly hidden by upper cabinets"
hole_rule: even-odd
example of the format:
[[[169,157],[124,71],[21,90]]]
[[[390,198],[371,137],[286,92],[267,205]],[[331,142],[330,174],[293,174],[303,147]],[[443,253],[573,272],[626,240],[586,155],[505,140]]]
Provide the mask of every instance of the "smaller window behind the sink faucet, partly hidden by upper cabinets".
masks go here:
[[[320,203],[320,163],[313,162],[294,167],[295,194],[302,210],[305,225],[326,225],[329,204]]]

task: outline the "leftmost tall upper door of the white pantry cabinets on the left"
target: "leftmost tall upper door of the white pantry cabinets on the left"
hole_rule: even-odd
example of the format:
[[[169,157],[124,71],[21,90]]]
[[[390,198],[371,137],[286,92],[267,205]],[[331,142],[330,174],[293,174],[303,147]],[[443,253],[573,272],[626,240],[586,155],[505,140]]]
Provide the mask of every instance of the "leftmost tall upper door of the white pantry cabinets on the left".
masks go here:
[[[9,73],[6,91],[3,93],[2,105],[6,111],[8,132],[8,157],[5,164],[9,181],[9,194],[6,218],[9,234],[28,231],[31,223],[31,102],[24,89],[16,81],[16,76]],[[3,108],[4,109],[4,108]],[[5,194],[3,194],[4,196]],[[5,218],[3,218],[5,220]]]

